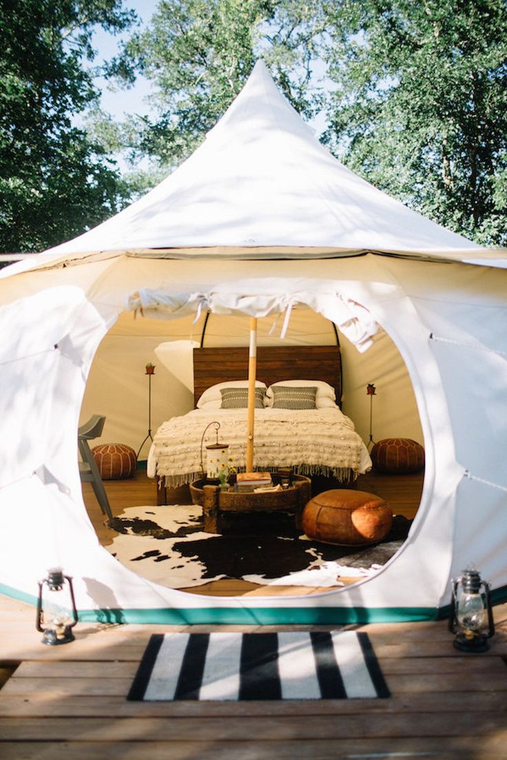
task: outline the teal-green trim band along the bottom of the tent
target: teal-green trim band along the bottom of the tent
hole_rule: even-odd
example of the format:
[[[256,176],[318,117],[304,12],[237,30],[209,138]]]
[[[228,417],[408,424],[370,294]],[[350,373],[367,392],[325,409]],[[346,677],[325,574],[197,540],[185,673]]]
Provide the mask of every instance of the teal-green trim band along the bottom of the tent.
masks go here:
[[[36,597],[0,584],[0,594],[36,606]],[[507,586],[491,593],[493,604],[507,601]],[[145,625],[350,625],[420,622],[448,617],[449,606],[432,607],[160,607],[149,610],[80,610],[80,622]]]

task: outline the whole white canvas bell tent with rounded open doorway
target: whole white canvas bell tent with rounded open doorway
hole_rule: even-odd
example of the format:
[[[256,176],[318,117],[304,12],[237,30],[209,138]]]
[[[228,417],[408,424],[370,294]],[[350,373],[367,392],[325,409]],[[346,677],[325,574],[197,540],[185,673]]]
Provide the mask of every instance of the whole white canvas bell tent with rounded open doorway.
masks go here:
[[[449,579],[474,563],[505,598],[506,263],[504,251],[477,248],[341,166],[259,63],[204,144],[157,188],[0,275],[0,591],[33,602],[36,581],[62,565],[81,619],[429,619],[448,605]],[[160,332],[119,318],[140,302],[169,318]],[[272,321],[292,307],[296,342],[327,319],[360,348],[379,325],[401,354],[426,449],[407,541],[362,584],[297,600],[203,597],[139,578],[100,546],[81,497],[76,431],[97,347],[94,401],[119,385],[106,366],[120,337],[132,337],[128,356],[144,347],[144,366],[146,346],[195,337],[199,309]],[[309,331],[306,315],[316,320]],[[365,385],[372,339],[360,354]],[[142,439],[142,425],[134,435]]]

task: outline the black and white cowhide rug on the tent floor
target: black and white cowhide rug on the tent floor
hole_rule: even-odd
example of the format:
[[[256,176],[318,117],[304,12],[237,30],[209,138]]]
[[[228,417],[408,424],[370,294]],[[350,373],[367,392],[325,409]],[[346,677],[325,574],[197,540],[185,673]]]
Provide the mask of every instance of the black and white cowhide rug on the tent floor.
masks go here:
[[[230,515],[223,534],[204,533],[201,507],[129,507],[110,523],[109,552],[150,581],[170,588],[219,578],[258,584],[341,586],[338,576],[369,576],[393,556],[410,527],[395,516],[375,546],[333,546],[298,534],[289,515]]]

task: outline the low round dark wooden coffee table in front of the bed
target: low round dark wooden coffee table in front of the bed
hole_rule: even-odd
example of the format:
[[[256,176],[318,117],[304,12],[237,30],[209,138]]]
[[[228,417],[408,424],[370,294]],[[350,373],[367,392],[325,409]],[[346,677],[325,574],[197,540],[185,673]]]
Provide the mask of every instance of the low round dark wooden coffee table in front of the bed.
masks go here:
[[[309,502],[311,481],[303,475],[293,475],[291,485],[280,491],[239,492],[230,488],[208,485],[204,480],[190,484],[192,503],[201,505],[206,533],[221,533],[223,512],[293,512],[296,528],[301,527],[303,508]]]

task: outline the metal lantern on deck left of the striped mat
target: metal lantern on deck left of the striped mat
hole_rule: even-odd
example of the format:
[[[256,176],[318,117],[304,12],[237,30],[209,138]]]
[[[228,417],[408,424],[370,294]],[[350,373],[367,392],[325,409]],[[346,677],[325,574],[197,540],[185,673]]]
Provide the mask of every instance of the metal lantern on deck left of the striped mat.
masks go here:
[[[69,613],[71,610],[71,613]],[[62,568],[50,568],[39,581],[36,629],[43,633],[43,644],[68,644],[74,641],[72,629],[78,622],[72,579]]]

